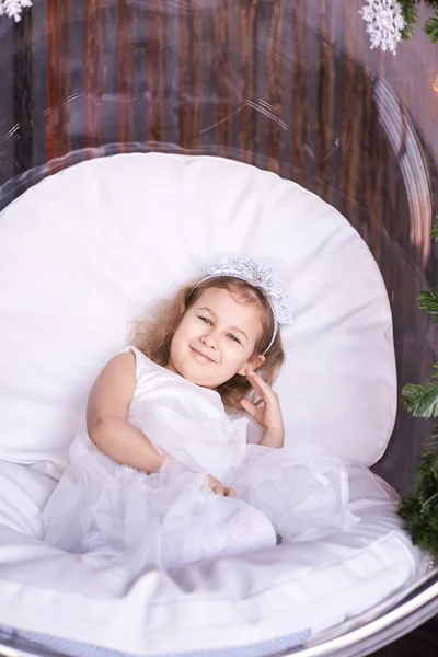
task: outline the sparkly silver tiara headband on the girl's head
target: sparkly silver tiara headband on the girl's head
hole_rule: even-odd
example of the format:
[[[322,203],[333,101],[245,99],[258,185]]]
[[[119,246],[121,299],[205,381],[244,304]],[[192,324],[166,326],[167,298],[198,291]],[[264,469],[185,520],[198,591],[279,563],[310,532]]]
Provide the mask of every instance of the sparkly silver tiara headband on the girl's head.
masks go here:
[[[280,324],[290,324],[292,322],[292,313],[289,309],[289,296],[286,288],[277,280],[267,267],[258,265],[253,260],[235,258],[232,263],[223,263],[214,265],[207,269],[207,275],[201,278],[195,287],[211,278],[221,276],[232,276],[249,283],[253,287],[262,290],[266,297],[274,315],[274,331],[270,342],[263,354],[266,354],[273,346],[273,343],[278,333]]]

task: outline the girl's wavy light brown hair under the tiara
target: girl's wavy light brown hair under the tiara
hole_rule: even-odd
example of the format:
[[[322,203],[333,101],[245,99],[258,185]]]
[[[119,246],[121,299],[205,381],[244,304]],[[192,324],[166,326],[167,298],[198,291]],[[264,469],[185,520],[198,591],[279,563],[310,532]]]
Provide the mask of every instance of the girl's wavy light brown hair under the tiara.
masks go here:
[[[165,367],[170,359],[173,336],[185,311],[200,297],[204,290],[211,287],[228,290],[235,301],[252,306],[260,312],[262,332],[252,356],[263,354],[274,331],[274,318],[269,302],[261,290],[232,276],[221,276],[205,280],[199,285],[196,285],[195,281],[184,286],[172,299],[153,307],[146,319],[135,322],[131,343],[153,362]],[[265,361],[257,368],[257,373],[272,385],[284,360],[285,351],[278,331],[273,345],[265,355]],[[250,399],[253,402],[260,402],[246,377],[241,374],[234,374],[216,388],[216,391],[220,394],[229,413],[242,412],[240,402],[249,393],[251,393]]]

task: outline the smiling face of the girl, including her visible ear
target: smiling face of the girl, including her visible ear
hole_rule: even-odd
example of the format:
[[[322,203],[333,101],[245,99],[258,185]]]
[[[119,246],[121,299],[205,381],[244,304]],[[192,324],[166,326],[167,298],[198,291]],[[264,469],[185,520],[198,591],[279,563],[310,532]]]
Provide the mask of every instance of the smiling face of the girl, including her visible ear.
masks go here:
[[[265,359],[254,347],[262,332],[257,309],[235,301],[227,289],[207,288],[186,310],[173,336],[166,368],[204,388],[217,388],[247,365]]]

